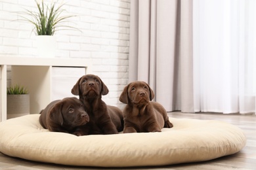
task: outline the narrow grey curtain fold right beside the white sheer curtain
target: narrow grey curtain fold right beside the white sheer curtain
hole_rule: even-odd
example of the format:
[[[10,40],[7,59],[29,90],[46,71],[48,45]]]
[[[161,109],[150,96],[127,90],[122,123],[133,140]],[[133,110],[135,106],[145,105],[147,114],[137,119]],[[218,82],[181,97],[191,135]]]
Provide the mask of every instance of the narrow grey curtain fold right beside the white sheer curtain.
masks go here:
[[[193,91],[193,1],[181,3],[181,110],[194,112]]]

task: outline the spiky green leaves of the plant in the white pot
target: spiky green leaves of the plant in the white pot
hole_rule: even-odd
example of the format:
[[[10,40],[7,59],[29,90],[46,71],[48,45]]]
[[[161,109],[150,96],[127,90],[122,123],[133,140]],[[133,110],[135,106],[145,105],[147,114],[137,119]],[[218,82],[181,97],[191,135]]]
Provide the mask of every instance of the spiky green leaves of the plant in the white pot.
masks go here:
[[[33,12],[32,10],[25,9],[26,12],[23,12],[26,15],[31,16],[32,18],[27,18],[25,16],[21,16],[25,21],[28,21],[33,24],[36,35],[54,35],[55,31],[59,30],[61,27],[76,29],[75,27],[71,27],[69,25],[64,25],[64,22],[67,18],[74,17],[75,15],[61,16],[64,9],[62,9],[63,5],[59,5],[56,7],[57,1],[51,3],[51,5],[47,5],[41,1],[39,3],[35,0],[37,5],[37,11]],[[77,29],[78,30],[78,29]]]

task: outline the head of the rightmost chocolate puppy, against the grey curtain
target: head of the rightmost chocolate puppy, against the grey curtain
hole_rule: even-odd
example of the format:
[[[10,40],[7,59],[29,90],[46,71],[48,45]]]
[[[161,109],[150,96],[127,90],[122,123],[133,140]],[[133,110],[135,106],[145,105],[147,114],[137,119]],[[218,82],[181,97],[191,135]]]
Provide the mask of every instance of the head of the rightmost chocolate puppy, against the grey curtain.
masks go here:
[[[119,101],[133,105],[146,105],[154,99],[155,94],[146,82],[135,81],[131,82],[123,89],[119,97]]]

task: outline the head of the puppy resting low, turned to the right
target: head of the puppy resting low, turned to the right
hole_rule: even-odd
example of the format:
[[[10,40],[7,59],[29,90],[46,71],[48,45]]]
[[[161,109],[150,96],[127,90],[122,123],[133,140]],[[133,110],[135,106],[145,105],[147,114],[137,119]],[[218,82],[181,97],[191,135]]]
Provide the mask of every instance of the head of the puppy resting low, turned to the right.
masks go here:
[[[89,122],[83,103],[76,97],[66,97],[56,103],[49,112],[49,119],[52,124],[58,124],[69,130]]]

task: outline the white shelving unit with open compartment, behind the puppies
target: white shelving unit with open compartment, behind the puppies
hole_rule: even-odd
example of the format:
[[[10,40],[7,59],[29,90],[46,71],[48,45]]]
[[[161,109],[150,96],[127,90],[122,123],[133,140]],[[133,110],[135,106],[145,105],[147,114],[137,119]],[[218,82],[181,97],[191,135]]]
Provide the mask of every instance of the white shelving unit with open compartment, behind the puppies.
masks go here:
[[[0,122],[7,119],[7,65],[12,66],[12,84],[20,84],[30,93],[30,113],[39,113],[51,102],[52,67],[84,67],[91,73],[90,59],[0,57],[1,114]]]

